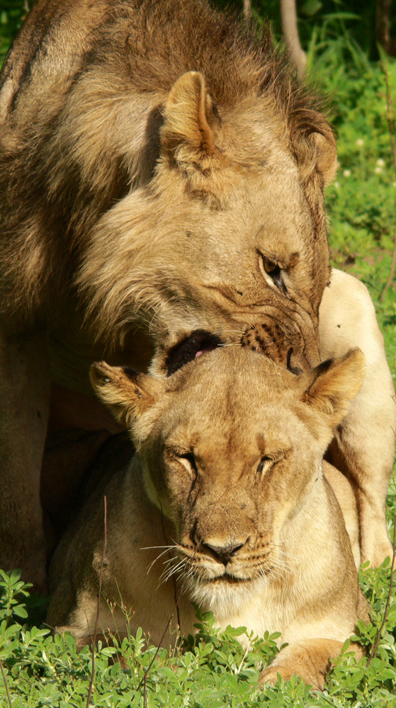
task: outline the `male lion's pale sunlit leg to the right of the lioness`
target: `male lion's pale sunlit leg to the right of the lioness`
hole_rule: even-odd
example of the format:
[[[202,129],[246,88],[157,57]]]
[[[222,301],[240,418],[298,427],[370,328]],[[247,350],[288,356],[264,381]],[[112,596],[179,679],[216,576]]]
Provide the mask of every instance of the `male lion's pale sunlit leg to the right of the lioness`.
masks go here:
[[[391,554],[385,498],[395,450],[396,401],[383,336],[367,288],[352,275],[332,271],[319,309],[322,360],[360,348],[366,375],[329,450],[330,462],[356,493],[362,561],[378,566]]]

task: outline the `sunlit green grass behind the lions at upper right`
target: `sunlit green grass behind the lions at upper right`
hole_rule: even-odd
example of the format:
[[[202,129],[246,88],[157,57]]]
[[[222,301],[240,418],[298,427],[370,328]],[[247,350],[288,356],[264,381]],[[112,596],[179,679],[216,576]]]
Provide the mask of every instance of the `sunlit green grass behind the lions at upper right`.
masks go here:
[[[339,170],[327,190],[332,265],[362,280],[373,298],[395,376],[396,287],[380,295],[390,272],[396,228],[396,171],[392,164],[386,117],[385,78],[354,48],[340,60],[342,38],[320,53],[313,47],[315,81],[330,98],[336,130]],[[345,50],[345,47],[344,47]],[[387,62],[396,113],[396,62]],[[311,76],[314,76],[311,70]]]

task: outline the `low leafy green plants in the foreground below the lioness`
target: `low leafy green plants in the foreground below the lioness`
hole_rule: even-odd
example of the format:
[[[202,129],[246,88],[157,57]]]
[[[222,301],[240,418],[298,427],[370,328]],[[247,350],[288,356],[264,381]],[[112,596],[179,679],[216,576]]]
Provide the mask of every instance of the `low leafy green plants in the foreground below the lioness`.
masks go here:
[[[1,571],[0,659],[4,665],[13,708],[86,706],[92,671],[88,647],[79,653],[72,636],[50,634],[47,627],[20,624],[26,619],[27,586],[18,571]],[[353,641],[368,652],[383,621],[390,581],[390,562],[378,570],[363,568],[361,585],[372,607],[372,622],[358,623]],[[138,630],[128,639],[113,637],[114,646],[98,643],[95,653],[94,704],[109,708],[131,705],[191,708],[283,708],[298,706],[396,706],[395,637],[396,596],[393,593],[387,621],[375,657],[356,663],[349,640],[329,673],[321,694],[311,692],[298,678],[287,683],[279,678],[274,687],[258,683],[263,665],[278,652],[278,634],[251,639],[245,651],[238,637],[244,627],[215,628],[211,613],[197,615],[196,636],[188,636],[176,649],[149,646]],[[146,677],[145,673],[149,669]],[[1,706],[6,688],[0,680]]]

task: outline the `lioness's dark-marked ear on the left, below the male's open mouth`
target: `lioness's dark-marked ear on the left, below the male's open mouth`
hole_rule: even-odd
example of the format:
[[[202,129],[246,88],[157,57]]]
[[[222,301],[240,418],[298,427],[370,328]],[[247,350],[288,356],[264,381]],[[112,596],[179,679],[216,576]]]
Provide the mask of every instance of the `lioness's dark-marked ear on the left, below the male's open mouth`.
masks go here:
[[[91,366],[89,377],[96,396],[126,428],[157,402],[162,388],[151,376],[103,361]]]

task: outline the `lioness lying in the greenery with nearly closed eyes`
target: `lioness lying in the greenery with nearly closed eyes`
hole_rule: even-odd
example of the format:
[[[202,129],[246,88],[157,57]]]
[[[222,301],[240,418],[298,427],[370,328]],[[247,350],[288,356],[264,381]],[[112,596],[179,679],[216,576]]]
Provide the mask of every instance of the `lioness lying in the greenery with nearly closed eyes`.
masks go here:
[[[172,628],[184,633],[194,631],[194,600],[220,627],[282,632],[288,647],[263,680],[298,673],[321,688],[330,658],[368,617],[334,491],[358,551],[356,503],[322,462],[363,375],[359,350],[300,376],[237,347],[167,381],[94,365],[96,393],[137,453],[55,552],[47,622],[79,644],[91,639],[103,563],[101,632],[124,634],[128,615],[132,631],[169,644],[175,598]]]

